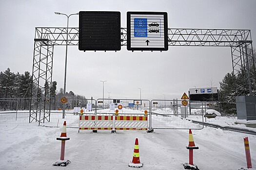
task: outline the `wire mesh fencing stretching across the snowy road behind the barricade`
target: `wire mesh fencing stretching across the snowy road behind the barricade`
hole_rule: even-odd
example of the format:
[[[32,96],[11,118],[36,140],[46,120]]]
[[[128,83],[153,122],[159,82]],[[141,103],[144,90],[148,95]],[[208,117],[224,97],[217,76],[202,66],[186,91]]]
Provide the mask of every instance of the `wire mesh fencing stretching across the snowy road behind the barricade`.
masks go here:
[[[203,123],[217,125],[245,126],[256,123],[256,104],[244,103],[247,118],[237,119],[236,102],[189,102],[186,106],[179,100],[133,100],[133,99],[79,99],[68,98],[63,113],[63,103],[60,99],[40,100],[32,104],[30,98],[0,99],[0,126],[44,125],[60,127],[67,121],[67,127],[78,127],[79,112],[84,114],[113,115],[118,110],[119,115],[144,115],[148,112],[151,129],[201,129]],[[47,102],[48,104],[45,104]],[[50,104],[51,110],[49,110]],[[87,104],[90,108],[87,108]],[[30,106],[37,112],[32,113]],[[249,110],[248,110],[249,108]],[[242,108],[243,109],[243,108]],[[247,110],[247,111],[245,111]],[[32,121],[31,114],[36,114]],[[47,115],[45,119],[45,115]],[[64,115],[63,115],[64,114]],[[64,117],[64,119],[63,119]],[[39,121],[40,120],[40,121]],[[194,120],[198,123],[193,123]],[[247,125],[246,125],[247,126]]]

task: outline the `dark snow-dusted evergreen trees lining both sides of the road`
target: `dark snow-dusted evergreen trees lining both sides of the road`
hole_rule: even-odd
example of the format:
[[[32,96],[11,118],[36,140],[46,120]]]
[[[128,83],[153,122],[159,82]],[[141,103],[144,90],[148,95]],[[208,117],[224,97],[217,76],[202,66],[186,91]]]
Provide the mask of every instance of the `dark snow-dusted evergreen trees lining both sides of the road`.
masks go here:
[[[252,50],[251,50],[252,51]],[[252,95],[256,95],[256,49],[253,50],[254,60],[250,60],[249,68],[251,76],[251,88]],[[227,73],[222,82],[219,82],[219,95],[221,102],[235,102],[237,94],[248,95],[249,87],[247,75],[248,73],[240,69],[236,75]],[[14,73],[10,68],[5,71],[0,72],[0,98],[30,98],[31,88],[32,88],[32,75],[30,72],[25,71],[24,74],[19,72]],[[57,82],[53,81],[52,85],[45,84],[44,89],[39,89],[39,91],[46,91],[51,93],[52,98],[63,97],[63,88],[57,90]],[[85,99],[82,95],[76,95],[73,91],[66,92],[67,98],[73,99]],[[43,96],[41,96],[43,98]]]

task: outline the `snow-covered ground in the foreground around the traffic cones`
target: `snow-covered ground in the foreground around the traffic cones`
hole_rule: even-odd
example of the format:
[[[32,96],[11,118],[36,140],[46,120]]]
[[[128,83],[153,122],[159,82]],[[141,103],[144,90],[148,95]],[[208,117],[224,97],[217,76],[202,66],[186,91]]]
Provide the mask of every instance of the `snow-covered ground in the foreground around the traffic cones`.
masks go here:
[[[168,117],[152,116],[154,121],[170,121]],[[66,120],[67,127],[69,121]],[[187,120],[182,120],[182,123]],[[187,121],[188,124],[191,123]],[[180,122],[177,122],[180,123]],[[243,127],[241,127],[243,128]],[[131,170],[134,143],[138,138],[141,170],[183,170],[189,162],[188,130],[154,129],[146,131],[110,130],[93,133],[67,128],[65,160],[67,167],[55,167],[59,161],[62,127],[5,126],[0,129],[0,165],[2,170]],[[194,164],[200,170],[247,169],[244,141],[248,136],[253,167],[256,167],[256,136],[210,127],[193,130]],[[256,170],[256,168],[249,169]]]

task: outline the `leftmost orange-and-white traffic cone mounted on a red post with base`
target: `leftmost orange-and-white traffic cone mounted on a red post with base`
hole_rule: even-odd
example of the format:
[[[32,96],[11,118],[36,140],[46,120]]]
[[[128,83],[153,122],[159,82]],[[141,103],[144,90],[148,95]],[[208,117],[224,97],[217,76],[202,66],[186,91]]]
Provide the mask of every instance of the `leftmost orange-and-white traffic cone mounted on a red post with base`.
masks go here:
[[[61,149],[60,149],[60,159],[53,163],[53,166],[66,167],[71,162],[69,160],[64,160],[65,155],[65,142],[70,138],[67,137],[66,121],[63,123],[62,132],[60,137],[57,137],[57,140],[61,140]]]

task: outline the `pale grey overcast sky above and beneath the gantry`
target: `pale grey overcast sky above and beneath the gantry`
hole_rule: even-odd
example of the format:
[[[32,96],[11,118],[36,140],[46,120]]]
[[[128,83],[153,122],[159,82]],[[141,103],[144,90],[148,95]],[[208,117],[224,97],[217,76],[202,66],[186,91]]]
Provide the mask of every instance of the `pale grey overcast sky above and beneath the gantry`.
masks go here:
[[[168,28],[250,29],[256,47],[256,0],[0,0],[0,71],[32,74],[35,27],[66,27],[79,11],[168,13]],[[69,18],[79,27],[79,16]],[[64,82],[65,46],[54,47],[53,81]],[[189,88],[219,88],[232,71],[229,47],[177,47],[168,51],[79,51],[68,47],[66,91],[86,98],[180,99]],[[110,92],[110,93],[108,93]]]

